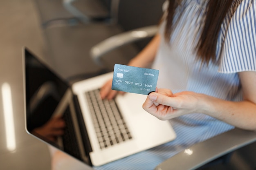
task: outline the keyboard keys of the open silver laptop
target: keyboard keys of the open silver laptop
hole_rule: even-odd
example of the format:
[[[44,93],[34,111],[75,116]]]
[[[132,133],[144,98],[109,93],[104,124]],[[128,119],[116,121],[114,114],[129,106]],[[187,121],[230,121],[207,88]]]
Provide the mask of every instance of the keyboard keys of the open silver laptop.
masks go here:
[[[132,139],[115,100],[101,99],[99,89],[86,92],[101,149]]]

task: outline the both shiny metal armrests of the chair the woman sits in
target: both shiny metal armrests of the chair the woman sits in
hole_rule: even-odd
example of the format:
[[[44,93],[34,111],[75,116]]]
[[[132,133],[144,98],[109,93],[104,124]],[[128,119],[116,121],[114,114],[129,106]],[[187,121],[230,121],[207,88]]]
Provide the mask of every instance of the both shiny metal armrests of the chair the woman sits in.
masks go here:
[[[95,63],[102,65],[105,54],[120,46],[150,38],[157,32],[157,26],[147,26],[112,36],[94,45],[91,57]],[[234,128],[211,139],[194,144],[177,155],[160,163],[155,170],[195,170],[225,161],[230,153],[256,141],[256,132]],[[184,160],[186,163],[184,163]]]

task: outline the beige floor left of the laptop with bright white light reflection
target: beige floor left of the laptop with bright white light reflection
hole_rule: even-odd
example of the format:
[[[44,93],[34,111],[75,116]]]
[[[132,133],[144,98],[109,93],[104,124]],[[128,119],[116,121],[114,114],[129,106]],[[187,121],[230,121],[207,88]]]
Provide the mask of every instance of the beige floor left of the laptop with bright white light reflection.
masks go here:
[[[0,1],[0,87],[10,89],[12,107],[9,116],[14,129],[5,131],[3,91],[0,98],[0,169],[50,170],[49,150],[46,144],[25,132],[22,86],[22,46],[30,46],[45,55],[45,41],[39,29],[36,11],[31,0]],[[46,55],[45,55],[46,56]],[[5,108],[8,109],[8,108]],[[9,146],[6,134],[13,137]],[[9,146],[9,147],[7,147]],[[42,161],[44,160],[44,161]]]

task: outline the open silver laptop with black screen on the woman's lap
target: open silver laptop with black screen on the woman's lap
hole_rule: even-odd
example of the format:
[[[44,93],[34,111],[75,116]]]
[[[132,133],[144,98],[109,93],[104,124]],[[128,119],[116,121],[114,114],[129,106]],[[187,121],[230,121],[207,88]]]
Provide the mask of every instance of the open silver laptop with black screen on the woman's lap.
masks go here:
[[[143,110],[146,95],[125,93],[102,100],[99,91],[111,72],[70,85],[26,47],[23,72],[27,132],[90,166],[176,137],[169,121]]]

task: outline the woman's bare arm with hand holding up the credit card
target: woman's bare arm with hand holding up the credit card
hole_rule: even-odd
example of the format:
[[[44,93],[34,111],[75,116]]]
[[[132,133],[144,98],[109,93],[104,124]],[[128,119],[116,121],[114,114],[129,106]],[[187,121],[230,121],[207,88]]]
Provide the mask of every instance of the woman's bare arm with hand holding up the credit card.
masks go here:
[[[256,72],[239,73],[244,100],[231,102],[194,92],[172,94],[167,89],[150,93],[143,108],[159,119],[204,113],[238,128],[256,130]]]

